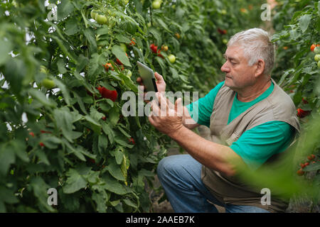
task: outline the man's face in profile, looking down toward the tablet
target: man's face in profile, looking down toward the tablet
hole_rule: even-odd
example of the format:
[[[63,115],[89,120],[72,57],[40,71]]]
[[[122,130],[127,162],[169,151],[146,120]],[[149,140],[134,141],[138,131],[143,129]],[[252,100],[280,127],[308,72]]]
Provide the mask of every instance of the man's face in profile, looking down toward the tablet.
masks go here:
[[[252,66],[247,64],[247,59],[240,46],[228,47],[224,57],[226,62],[221,67],[221,71],[225,72],[225,86],[239,91],[255,83],[255,64]]]

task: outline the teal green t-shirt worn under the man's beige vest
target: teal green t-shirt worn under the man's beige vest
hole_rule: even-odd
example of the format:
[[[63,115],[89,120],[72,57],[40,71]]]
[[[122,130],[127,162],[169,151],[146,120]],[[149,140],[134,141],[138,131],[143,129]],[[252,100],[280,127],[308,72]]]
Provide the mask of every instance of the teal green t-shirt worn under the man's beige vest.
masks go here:
[[[223,87],[224,82],[220,82],[217,86],[210,90],[210,92],[198,101],[186,106],[189,114],[197,123],[203,126],[210,127],[210,116],[213,111],[213,104],[215,96]],[[238,100],[237,94],[233,100],[228,124],[237,118],[240,114],[253,106],[257,102],[267,98],[274,89],[274,84],[261,94],[257,99],[249,102],[242,102]],[[193,106],[198,105],[198,116],[193,116]],[[251,128],[242,133],[240,138],[235,141],[230,148],[235,151],[242,160],[253,170],[257,169],[266,162],[272,155],[281,153],[292,142],[294,138],[294,127],[283,121],[269,121],[262,123],[260,126]]]

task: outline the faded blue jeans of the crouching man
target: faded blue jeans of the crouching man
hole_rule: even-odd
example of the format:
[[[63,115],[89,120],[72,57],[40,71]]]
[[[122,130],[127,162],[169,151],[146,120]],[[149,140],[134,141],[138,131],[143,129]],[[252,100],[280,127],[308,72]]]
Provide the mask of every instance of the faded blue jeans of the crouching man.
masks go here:
[[[226,213],[269,213],[257,206],[221,204],[201,181],[201,167],[201,163],[191,155],[172,155],[159,162],[157,174],[174,211],[217,213],[213,205],[217,204],[224,206]]]

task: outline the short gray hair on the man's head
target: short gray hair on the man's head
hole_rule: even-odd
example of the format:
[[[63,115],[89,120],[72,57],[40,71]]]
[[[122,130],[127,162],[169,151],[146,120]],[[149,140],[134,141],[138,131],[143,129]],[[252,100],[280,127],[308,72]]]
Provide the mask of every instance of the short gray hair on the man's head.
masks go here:
[[[236,33],[230,38],[228,46],[240,45],[247,58],[248,65],[252,66],[257,60],[265,61],[265,76],[269,76],[274,66],[275,47],[270,35],[261,28],[251,28]]]

